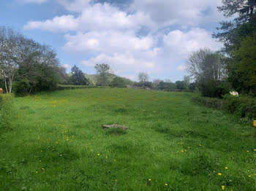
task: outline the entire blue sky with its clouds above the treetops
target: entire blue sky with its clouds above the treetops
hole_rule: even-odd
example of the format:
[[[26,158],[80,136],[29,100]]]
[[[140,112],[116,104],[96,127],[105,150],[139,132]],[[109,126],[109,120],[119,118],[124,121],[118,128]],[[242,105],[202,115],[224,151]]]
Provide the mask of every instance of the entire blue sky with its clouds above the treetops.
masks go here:
[[[183,79],[188,55],[211,38],[221,0],[1,0],[0,25],[50,44],[67,71],[108,63],[122,77]]]

